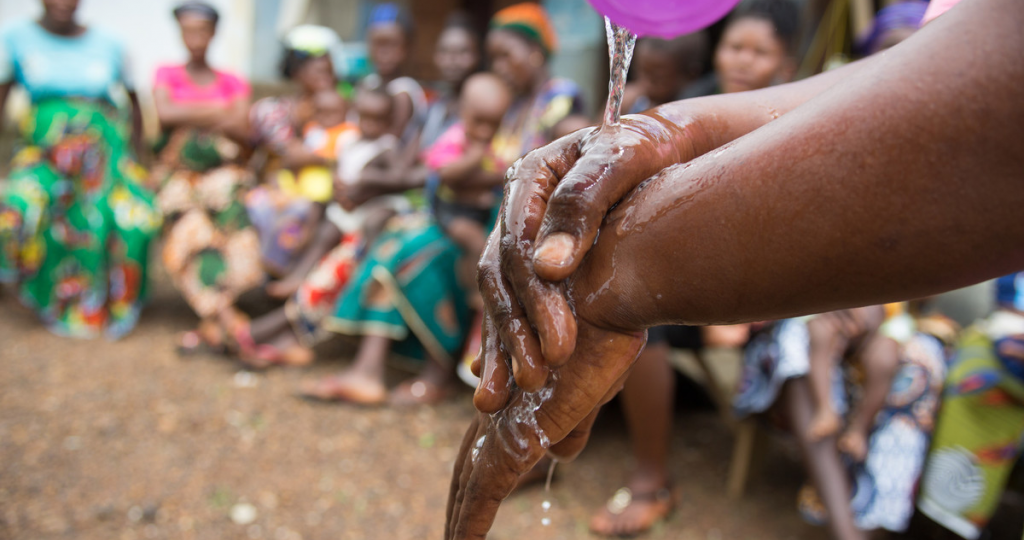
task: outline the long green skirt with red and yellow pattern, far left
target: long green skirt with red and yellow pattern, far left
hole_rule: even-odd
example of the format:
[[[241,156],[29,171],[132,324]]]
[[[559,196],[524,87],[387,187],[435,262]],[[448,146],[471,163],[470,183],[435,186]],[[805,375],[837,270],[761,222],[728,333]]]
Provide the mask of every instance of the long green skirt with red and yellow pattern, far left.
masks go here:
[[[54,333],[118,338],[138,320],[160,230],[113,109],[47,99],[0,188],[0,279]]]

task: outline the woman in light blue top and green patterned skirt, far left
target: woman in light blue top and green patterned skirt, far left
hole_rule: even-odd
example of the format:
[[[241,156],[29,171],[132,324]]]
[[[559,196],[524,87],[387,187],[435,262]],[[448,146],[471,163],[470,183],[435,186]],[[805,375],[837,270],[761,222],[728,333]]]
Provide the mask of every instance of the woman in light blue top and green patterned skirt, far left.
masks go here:
[[[129,148],[142,124],[126,50],[77,8],[44,1],[39,22],[0,34],[0,118],[15,84],[32,101],[0,186],[0,280],[56,334],[118,338],[142,308],[161,218]]]

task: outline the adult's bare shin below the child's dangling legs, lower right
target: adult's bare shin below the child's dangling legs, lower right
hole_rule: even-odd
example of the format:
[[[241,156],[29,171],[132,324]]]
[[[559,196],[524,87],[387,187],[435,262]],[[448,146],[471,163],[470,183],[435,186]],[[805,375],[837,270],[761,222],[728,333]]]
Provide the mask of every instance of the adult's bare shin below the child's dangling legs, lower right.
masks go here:
[[[850,510],[850,482],[846,469],[836,450],[836,438],[813,440],[808,433],[814,415],[814,400],[811,397],[807,377],[791,379],[782,386],[780,396],[782,412],[790,428],[800,443],[804,462],[811,475],[811,482],[828,512],[828,526],[837,540],[863,540],[863,531],[853,523]]]

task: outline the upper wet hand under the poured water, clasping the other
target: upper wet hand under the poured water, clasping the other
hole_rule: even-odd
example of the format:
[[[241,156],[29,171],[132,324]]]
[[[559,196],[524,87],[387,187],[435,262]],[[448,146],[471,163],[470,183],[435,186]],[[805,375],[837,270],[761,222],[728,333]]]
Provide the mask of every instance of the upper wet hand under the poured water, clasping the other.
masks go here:
[[[558,282],[579,267],[609,208],[663,168],[695,156],[688,140],[685,129],[656,114],[632,115],[562,137],[509,170],[479,280],[520,387],[540,388],[547,369],[564,364],[575,346],[575,317]]]

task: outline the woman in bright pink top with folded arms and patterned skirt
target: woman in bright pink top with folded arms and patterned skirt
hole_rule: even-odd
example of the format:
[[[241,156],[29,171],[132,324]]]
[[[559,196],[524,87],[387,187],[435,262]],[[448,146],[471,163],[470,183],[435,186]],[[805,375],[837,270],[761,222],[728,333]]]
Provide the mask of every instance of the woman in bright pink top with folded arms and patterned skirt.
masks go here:
[[[207,64],[217,11],[203,2],[174,10],[188,49],[183,66],[157,71],[154,99],[164,136],[151,181],[168,223],[164,264],[200,316],[180,350],[220,347],[218,318],[234,315],[234,300],[260,285],[259,240],[243,197],[253,176],[239,163],[246,154],[249,84]]]

